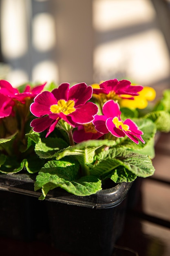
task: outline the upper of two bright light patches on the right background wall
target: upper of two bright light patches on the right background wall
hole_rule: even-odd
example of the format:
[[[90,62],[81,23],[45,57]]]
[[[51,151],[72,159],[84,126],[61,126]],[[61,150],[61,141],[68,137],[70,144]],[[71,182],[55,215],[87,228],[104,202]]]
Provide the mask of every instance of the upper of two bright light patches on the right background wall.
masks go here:
[[[137,25],[155,18],[148,0],[94,0],[93,26],[97,31]]]

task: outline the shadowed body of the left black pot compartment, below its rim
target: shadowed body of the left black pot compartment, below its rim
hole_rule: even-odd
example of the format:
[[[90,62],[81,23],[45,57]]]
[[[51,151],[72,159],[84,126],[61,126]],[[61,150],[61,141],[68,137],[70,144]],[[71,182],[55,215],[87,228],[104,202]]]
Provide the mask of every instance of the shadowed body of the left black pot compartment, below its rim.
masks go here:
[[[33,241],[48,230],[42,223],[45,211],[37,198],[9,191],[0,191],[0,236],[16,240]],[[45,212],[43,213],[45,214]]]

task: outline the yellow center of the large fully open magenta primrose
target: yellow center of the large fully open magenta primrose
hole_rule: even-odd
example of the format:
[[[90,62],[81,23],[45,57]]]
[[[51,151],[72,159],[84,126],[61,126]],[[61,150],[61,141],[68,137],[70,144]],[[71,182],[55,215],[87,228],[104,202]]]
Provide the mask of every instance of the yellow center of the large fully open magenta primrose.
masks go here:
[[[54,114],[63,112],[64,115],[69,115],[75,111],[74,101],[65,101],[64,99],[60,99],[57,104],[51,105],[50,111]]]

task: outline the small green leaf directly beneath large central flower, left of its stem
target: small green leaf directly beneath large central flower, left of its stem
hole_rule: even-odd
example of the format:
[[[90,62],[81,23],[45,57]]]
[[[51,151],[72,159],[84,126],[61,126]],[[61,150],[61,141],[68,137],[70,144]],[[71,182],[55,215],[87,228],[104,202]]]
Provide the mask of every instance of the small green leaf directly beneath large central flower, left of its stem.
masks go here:
[[[56,151],[68,147],[66,141],[61,138],[39,138],[37,144],[35,144],[35,153],[40,158],[52,158],[55,156]]]

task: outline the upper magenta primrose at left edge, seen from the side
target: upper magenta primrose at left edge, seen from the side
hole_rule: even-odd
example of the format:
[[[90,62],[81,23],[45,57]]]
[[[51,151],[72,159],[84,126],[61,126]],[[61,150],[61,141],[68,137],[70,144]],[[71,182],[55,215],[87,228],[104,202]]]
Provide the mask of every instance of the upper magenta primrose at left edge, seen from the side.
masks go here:
[[[30,85],[26,85],[24,92],[19,92],[17,88],[13,88],[12,85],[5,80],[0,80],[0,93],[8,96],[11,99],[18,100],[22,103],[25,103],[24,99],[30,97],[31,99],[35,98],[37,94],[42,92],[46,83],[42,85],[36,85],[34,88],[31,88]]]

